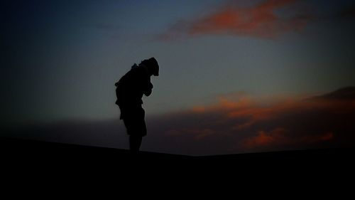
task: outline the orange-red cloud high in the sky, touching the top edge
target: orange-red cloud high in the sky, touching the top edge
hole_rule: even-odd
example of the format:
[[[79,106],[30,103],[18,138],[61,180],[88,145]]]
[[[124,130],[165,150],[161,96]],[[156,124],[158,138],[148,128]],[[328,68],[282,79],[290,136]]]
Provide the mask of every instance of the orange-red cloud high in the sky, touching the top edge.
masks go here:
[[[300,9],[295,9],[290,17],[275,14],[278,9],[295,6],[295,3],[296,0],[266,0],[251,7],[240,7],[229,1],[202,19],[179,21],[162,38],[176,38],[179,34],[230,34],[275,38],[283,33],[302,30],[310,20],[310,15]]]

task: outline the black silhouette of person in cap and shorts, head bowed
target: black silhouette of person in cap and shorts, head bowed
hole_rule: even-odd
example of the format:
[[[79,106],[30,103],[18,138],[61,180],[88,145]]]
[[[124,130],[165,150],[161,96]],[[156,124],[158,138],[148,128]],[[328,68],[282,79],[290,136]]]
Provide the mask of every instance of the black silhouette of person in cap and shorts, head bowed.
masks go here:
[[[155,58],[143,60],[134,64],[116,85],[116,105],[121,110],[121,120],[124,120],[129,135],[131,152],[139,152],[142,137],[147,135],[145,112],[143,110],[143,95],[152,93],[151,75],[159,75],[159,65]]]

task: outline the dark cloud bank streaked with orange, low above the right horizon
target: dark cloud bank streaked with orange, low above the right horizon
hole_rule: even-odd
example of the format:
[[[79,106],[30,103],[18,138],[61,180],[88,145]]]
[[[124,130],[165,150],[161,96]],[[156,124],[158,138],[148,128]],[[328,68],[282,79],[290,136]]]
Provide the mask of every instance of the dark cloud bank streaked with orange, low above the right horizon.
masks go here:
[[[173,118],[181,126],[175,138],[249,152],[353,144],[355,99],[344,95],[262,103],[245,94],[220,96]]]

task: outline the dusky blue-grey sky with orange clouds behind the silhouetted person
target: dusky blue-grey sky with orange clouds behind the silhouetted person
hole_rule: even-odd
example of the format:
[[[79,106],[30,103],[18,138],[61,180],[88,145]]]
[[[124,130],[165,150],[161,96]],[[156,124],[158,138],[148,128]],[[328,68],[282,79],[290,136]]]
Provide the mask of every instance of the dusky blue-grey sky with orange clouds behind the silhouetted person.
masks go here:
[[[155,57],[160,75],[143,98],[143,149],[170,152],[176,144],[175,153],[213,154],[318,147],[351,132],[338,130],[344,125],[310,132],[270,117],[304,110],[352,119],[329,111],[334,103],[300,102],[355,85],[354,1],[15,0],[1,2],[1,18],[0,125],[6,130],[119,121],[114,83],[134,63]],[[352,103],[337,107],[351,110]],[[149,135],[150,129],[159,134]],[[101,141],[97,134],[92,141]],[[229,144],[228,135],[238,144]],[[229,149],[222,148],[226,143]],[[97,145],[126,147],[121,144]],[[212,144],[212,152],[202,150]]]

